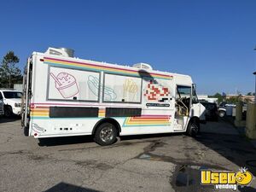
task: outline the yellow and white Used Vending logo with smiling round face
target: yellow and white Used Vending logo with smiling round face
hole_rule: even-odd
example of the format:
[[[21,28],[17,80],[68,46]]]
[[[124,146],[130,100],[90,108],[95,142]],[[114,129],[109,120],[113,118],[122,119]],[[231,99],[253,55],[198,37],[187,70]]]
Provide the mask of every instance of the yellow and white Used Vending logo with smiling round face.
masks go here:
[[[201,184],[213,185],[214,189],[233,189],[237,190],[238,185],[247,186],[253,180],[253,174],[247,168],[239,169],[239,172],[212,172],[201,171]]]

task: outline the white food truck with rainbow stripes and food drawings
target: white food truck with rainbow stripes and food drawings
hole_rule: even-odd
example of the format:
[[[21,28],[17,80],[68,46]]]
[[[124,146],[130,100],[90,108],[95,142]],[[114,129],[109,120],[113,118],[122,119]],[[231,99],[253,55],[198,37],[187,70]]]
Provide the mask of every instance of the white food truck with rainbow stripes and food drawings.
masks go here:
[[[188,75],[73,57],[72,49],[33,52],[24,76],[22,125],[27,136],[92,135],[109,145],[116,137],[185,132],[205,120]]]

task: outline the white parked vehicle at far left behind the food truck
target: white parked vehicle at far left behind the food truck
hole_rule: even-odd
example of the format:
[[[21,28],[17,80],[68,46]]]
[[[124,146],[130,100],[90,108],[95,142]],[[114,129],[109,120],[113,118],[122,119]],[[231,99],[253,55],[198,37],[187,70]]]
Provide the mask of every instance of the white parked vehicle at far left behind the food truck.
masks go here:
[[[3,101],[3,111],[6,117],[20,115],[22,93],[17,90],[0,90],[0,100]]]

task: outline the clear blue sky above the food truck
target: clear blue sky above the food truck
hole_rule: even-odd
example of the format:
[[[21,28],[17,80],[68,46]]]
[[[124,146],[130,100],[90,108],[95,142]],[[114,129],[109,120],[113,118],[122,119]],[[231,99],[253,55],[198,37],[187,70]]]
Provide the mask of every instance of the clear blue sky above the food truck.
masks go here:
[[[254,91],[256,1],[2,1],[0,59],[32,51],[192,76],[201,94]]]

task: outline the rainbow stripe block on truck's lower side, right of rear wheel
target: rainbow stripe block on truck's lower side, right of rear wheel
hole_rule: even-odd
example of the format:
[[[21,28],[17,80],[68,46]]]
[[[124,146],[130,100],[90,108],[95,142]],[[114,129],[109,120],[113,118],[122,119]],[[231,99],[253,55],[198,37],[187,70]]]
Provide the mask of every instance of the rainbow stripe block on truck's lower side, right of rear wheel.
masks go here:
[[[123,126],[166,126],[171,125],[169,115],[142,115],[127,117]]]

